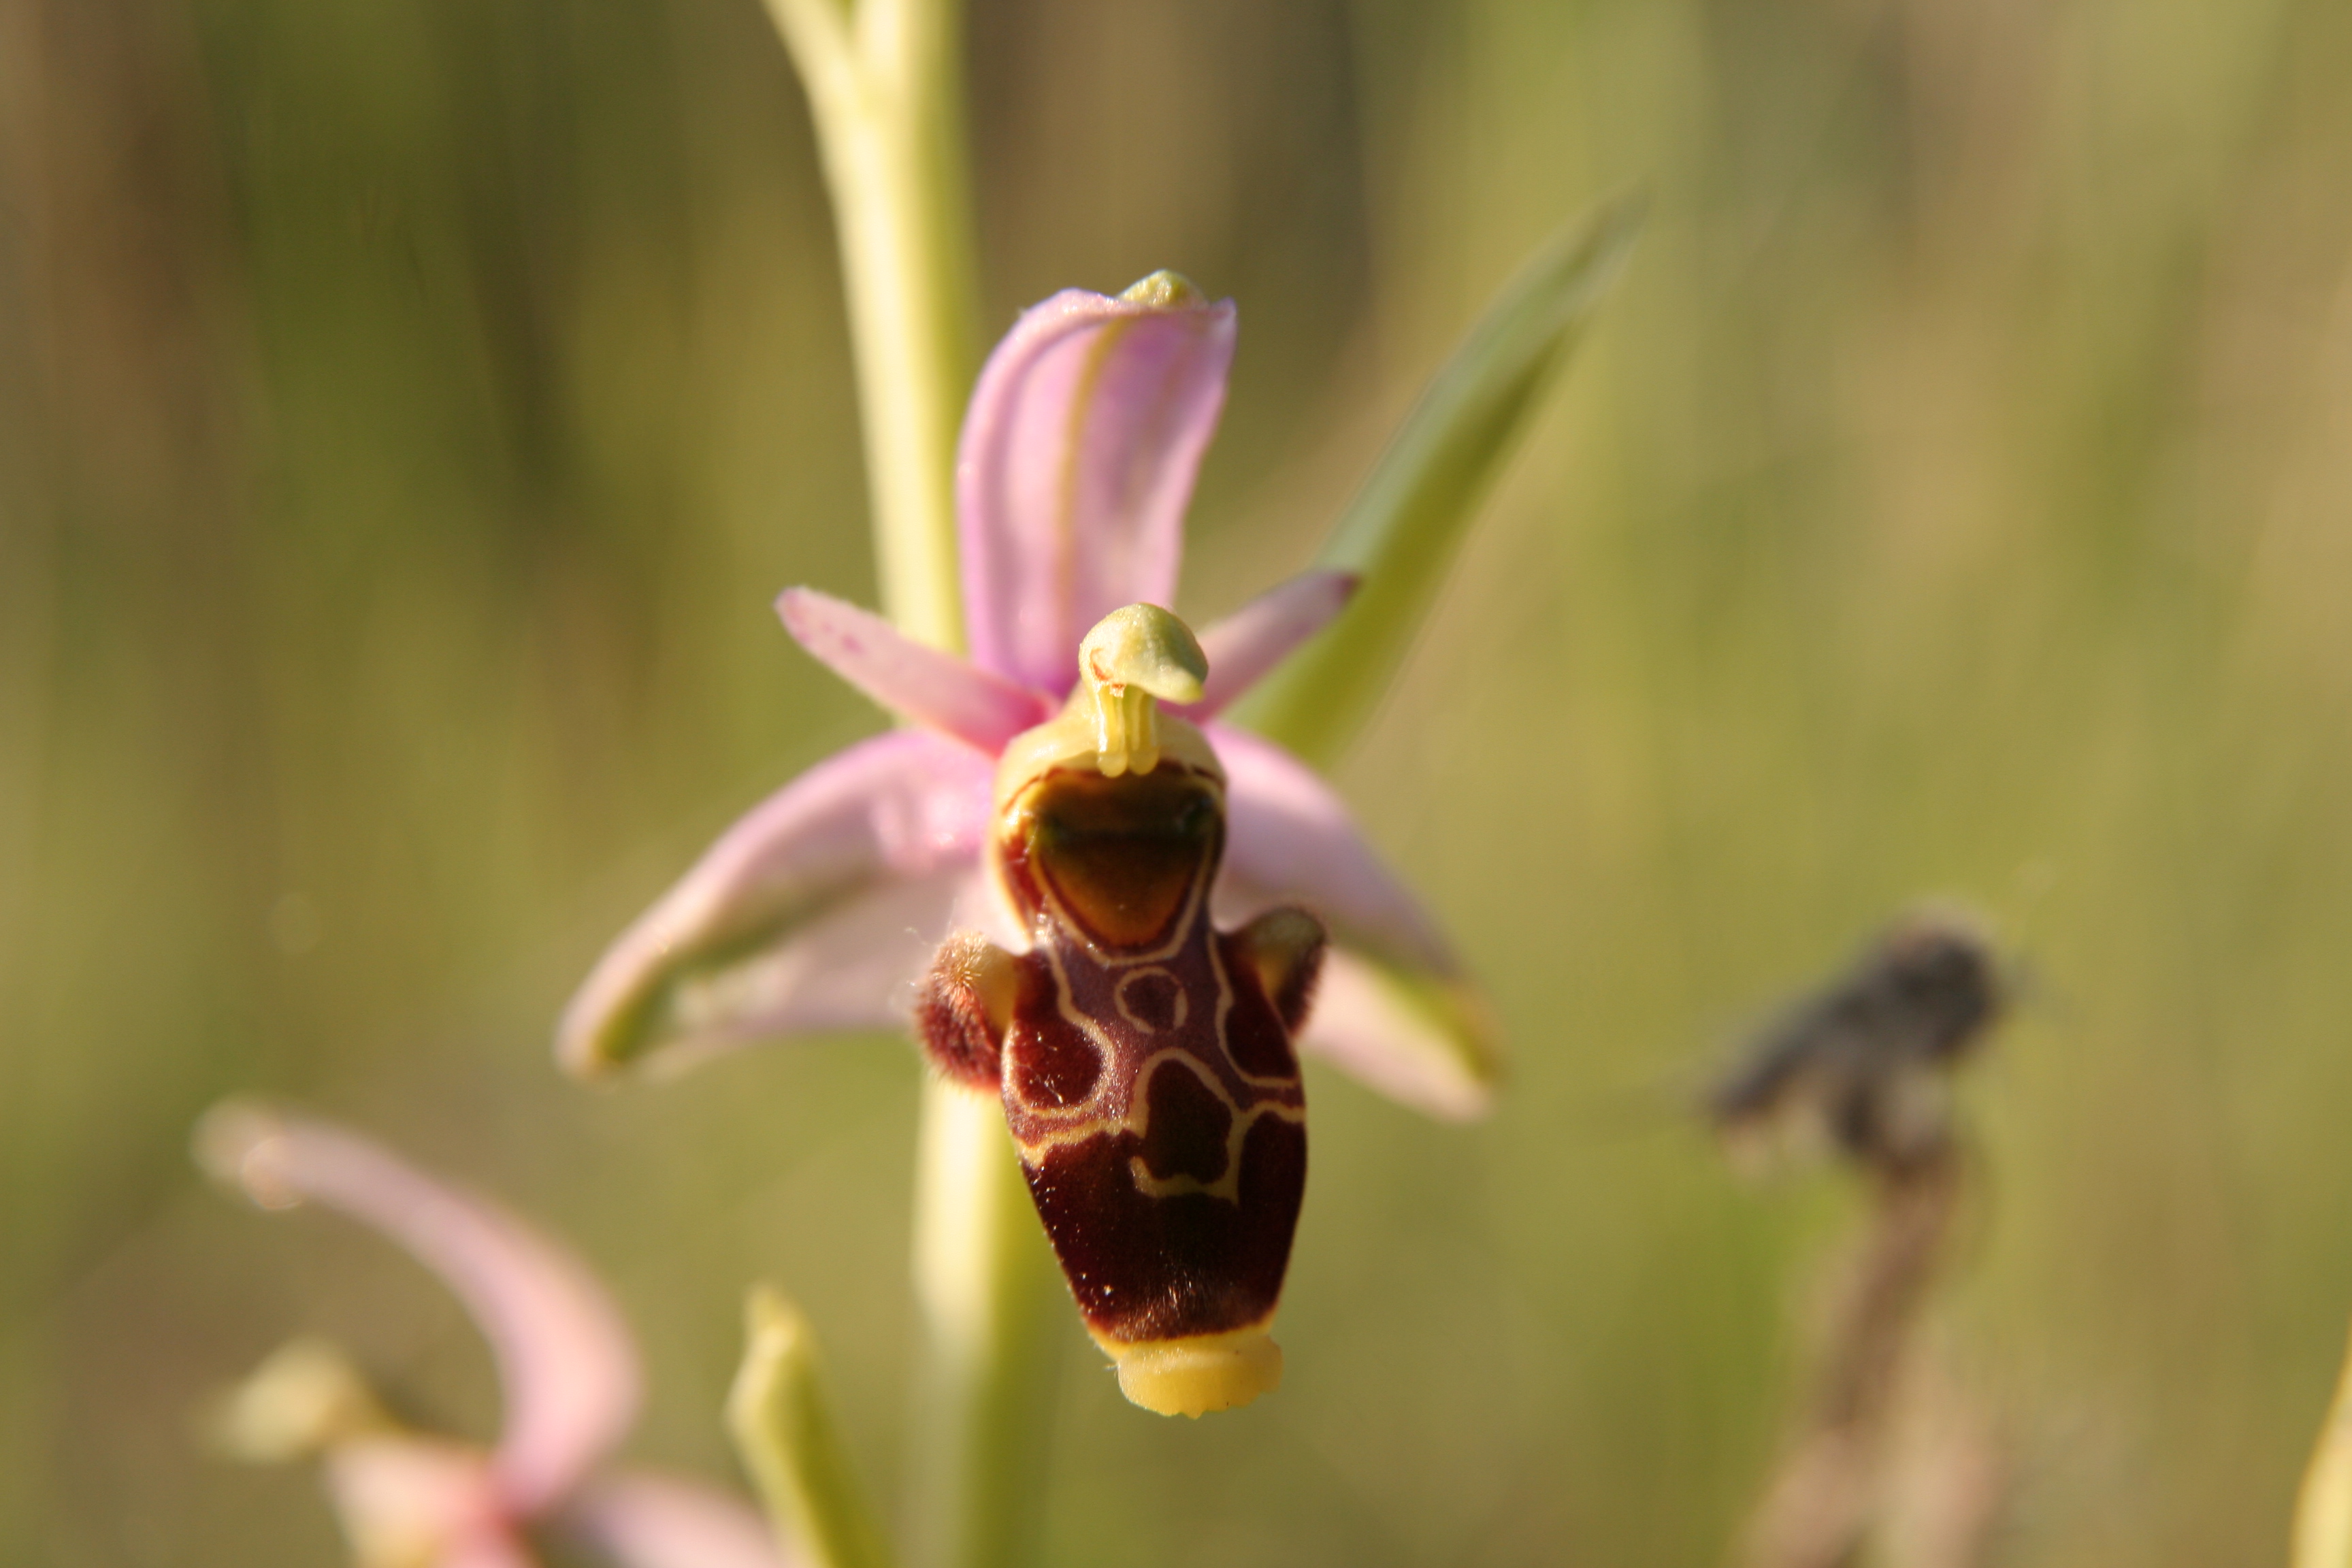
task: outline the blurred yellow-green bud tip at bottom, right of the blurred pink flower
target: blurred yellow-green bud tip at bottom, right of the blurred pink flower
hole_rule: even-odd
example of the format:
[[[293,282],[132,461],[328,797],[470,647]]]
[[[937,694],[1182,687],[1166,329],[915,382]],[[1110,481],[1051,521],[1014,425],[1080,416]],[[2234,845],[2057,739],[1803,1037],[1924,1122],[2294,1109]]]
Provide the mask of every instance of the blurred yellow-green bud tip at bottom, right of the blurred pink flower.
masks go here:
[[[809,1568],[891,1568],[866,1509],[800,1307],[760,1286],[746,1312],[743,1366],[727,1394],[727,1429],[767,1505],[788,1561]]]

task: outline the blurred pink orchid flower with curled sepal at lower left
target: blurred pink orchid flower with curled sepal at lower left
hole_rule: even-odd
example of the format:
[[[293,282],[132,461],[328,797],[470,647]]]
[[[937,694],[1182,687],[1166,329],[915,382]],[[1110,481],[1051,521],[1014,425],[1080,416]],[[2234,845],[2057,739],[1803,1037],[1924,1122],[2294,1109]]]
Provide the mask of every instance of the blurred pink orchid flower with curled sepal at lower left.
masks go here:
[[[555,1241],[327,1121],[228,1103],[195,1147],[261,1208],[325,1204],[397,1241],[489,1340],[506,1427],[487,1450],[400,1427],[315,1340],[280,1349],[223,1408],[223,1439],[245,1458],[322,1460],[360,1568],[532,1568],[539,1533],[621,1568],[786,1568],[736,1497],[597,1469],[635,1420],[637,1352]]]

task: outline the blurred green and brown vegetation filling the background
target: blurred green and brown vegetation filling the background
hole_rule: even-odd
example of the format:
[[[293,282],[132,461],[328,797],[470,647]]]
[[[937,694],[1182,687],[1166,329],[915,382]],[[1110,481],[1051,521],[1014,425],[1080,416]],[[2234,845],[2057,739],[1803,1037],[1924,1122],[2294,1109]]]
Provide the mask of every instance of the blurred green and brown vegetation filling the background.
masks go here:
[[[1068,1321],[1054,1563],[1710,1563],[1853,1199],[1736,1182],[1722,1046],[1893,907],[2037,987],[1936,1333],[2013,1563],[2277,1561],[2352,1309],[2352,7],[971,0],[988,327],[1242,303],[1178,609],[1301,567],[1562,216],[1632,270],[1341,783],[1515,1081],[1312,1079],[1261,1406]],[[572,1237],[633,1453],[729,1467],[753,1276],[868,1476],[910,1415],[917,1063],[588,1093],[550,1020],[877,715],[830,221],[753,0],[0,7],[0,1559],[327,1563],[191,1439],[296,1328],[487,1432],[419,1269],[200,1187],[223,1091]]]

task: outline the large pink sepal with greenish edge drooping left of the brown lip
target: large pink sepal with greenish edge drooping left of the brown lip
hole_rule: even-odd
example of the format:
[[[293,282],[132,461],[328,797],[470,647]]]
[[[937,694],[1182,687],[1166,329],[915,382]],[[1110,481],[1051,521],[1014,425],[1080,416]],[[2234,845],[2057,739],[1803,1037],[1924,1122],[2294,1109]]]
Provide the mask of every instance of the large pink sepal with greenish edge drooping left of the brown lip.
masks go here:
[[[896,980],[978,860],[990,757],[922,731],[861,741],[727,830],[604,952],[557,1034],[581,1074],[898,1018]]]

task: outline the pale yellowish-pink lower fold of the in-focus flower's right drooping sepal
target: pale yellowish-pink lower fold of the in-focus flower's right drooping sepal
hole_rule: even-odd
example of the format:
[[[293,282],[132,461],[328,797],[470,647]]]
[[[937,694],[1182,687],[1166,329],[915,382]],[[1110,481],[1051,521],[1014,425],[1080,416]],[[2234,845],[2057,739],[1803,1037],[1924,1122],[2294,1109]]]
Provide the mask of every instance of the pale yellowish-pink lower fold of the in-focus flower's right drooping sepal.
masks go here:
[[[1324,952],[1298,1048],[1439,1121],[1494,1105],[1494,1030],[1458,980],[1409,976],[1350,947]]]

